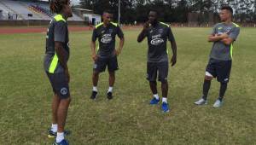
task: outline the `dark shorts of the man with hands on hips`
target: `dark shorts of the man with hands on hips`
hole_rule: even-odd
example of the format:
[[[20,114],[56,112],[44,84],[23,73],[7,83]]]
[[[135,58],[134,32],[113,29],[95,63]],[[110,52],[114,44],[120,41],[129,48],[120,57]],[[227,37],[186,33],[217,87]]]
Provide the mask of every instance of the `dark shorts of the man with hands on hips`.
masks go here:
[[[106,67],[108,66],[108,72],[114,72],[119,69],[119,64],[117,61],[117,56],[102,58],[98,57],[94,63],[93,70],[102,73],[105,72]]]

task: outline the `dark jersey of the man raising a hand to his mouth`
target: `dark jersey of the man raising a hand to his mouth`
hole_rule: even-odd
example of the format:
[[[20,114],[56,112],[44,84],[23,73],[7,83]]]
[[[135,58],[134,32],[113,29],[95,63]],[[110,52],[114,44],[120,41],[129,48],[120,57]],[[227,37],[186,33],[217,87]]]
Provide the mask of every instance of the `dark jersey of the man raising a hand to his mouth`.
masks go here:
[[[158,22],[156,26],[149,26],[146,36],[148,38],[148,62],[168,61],[166,42],[167,39],[174,41],[171,27]]]

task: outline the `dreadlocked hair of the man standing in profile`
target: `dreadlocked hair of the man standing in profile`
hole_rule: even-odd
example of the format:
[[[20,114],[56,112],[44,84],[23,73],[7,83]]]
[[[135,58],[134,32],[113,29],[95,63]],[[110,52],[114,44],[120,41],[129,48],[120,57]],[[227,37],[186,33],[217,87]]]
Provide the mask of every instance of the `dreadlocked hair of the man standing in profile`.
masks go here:
[[[64,5],[70,3],[70,0],[50,0],[49,9],[52,13],[59,14],[63,9]]]

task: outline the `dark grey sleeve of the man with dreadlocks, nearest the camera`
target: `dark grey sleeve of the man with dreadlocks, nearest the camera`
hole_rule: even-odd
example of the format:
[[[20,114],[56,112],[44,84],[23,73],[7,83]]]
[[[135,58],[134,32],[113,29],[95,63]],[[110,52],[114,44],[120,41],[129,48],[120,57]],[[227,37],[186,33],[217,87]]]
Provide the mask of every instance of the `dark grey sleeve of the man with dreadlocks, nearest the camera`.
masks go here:
[[[67,34],[67,25],[63,21],[55,24],[55,41],[65,43]]]

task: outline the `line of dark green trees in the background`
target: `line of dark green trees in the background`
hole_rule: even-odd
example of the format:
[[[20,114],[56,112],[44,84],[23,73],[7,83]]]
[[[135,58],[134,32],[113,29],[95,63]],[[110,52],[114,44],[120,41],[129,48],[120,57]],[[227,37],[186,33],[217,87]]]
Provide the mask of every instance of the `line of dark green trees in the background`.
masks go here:
[[[120,0],[120,22],[143,22],[147,20],[148,10],[156,9],[162,21],[185,23],[189,13],[218,15],[218,9],[223,5],[234,9],[237,22],[256,22],[256,0]],[[119,0],[81,0],[79,7],[92,9],[95,14],[109,9],[114,14],[114,20],[118,20]],[[207,19],[200,18],[201,21]]]

